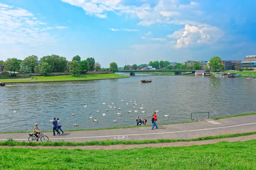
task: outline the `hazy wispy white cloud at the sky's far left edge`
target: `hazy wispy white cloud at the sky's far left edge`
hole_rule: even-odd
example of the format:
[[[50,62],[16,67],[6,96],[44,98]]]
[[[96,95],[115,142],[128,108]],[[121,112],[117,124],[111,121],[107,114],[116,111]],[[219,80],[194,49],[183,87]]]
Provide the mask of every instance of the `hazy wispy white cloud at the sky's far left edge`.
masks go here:
[[[46,23],[23,8],[0,3],[0,44],[38,45],[54,42]]]

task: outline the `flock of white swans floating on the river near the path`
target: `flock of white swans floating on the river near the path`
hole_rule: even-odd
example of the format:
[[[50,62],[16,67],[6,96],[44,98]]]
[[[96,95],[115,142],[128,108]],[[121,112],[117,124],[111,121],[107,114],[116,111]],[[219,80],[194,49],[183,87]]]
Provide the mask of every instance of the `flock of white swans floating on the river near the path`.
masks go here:
[[[122,100],[120,100],[120,101],[121,101],[121,102],[124,102],[124,99],[122,99]],[[127,106],[128,106],[128,105],[131,105],[131,104],[132,104],[132,100],[130,100],[129,102],[126,103]],[[102,105],[106,105],[106,102],[103,102]],[[107,109],[106,109],[105,111],[108,112],[109,109],[112,109],[112,108],[113,108],[114,110],[116,110],[116,106],[115,106],[115,105],[113,106],[113,105],[114,105],[114,102],[111,102],[111,104],[107,106]],[[135,108],[137,107],[137,105],[138,105],[138,102],[134,101],[134,102],[133,102],[133,105],[134,105],[134,106],[133,106],[133,109],[135,109]],[[84,108],[87,108],[87,104],[84,105]],[[143,108],[143,104],[140,106],[139,109],[141,110],[141,113],[144,113],[144,114],[146,113],[145,109]],[[117,116],[121,115],[121,114],[122,114],[122,113],[121,113],[121,106],[119,106],[119,107],[117,108],[117,110],[118,110],[119,112],[117,112],[116,115],[117,115]],[[100,112],[100,111],[99,111],[99,108],[98,108],[98,109],[96,110],[96,113],[99,113],[99,112]],[[134,110],[134,112],[135,112],[135,113],[138,113],[138,109]],[[156,110],[155,112],[159,112],[159,110]],[[130,109],[129,111],[124,112],[124,113],[132,113],[132,110]],[[102,116],[106,116],[106,115],[107,115],[106,113],[102,113]],[[72,112],[71,116],[76,116],[76,114],[75,114],[74,111]],[[169,114],[164,115],[164,116],[169,118]],[[93,119],[93,115],[89,116],[88,119],[92,119],[93,122],[97,122],[97,123],[98,123],[98,118]],[[49,120],[49,122],[53,122],[53,119]],[[116,119],[116,120],[113,120],[112,122],[117,124],[117,119]],[[73,124],[73,126],[79,126],[79,123],[75,123],[75,124]]]

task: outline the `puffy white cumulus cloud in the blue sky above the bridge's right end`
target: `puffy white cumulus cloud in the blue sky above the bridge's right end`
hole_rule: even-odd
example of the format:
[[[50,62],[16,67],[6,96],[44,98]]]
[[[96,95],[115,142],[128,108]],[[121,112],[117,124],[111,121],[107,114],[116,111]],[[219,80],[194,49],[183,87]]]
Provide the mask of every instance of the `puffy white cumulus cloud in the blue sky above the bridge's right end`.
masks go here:
[[[185,25],[179,31],[167,35],[169,38],[177,39],[176,48],[193,46],[195,44],[212,44],[223,36],[223,31],[209,25],[190,26]]]

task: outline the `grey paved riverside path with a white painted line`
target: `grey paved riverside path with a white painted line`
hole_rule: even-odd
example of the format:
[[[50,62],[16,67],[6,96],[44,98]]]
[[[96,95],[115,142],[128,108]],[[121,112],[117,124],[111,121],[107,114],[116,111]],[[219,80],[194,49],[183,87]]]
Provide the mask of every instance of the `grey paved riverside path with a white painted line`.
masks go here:
[[[209,122],[208,122],[209,121]],[[212,121],[212,122],[211,122]],[[150,123],[150,122],[148,122]],[[155,140],[155,139],[195,139],[204,136],[218,136],[234,133],[256,131],[256,115],[231,117],[220,120],[181,123],[175,125],[159,125],[151,127],[70,131],[53,136],[51,132],[44,134],[50,141],[86,142],[106,139],[113,140]],[[0,141],[12,138],[17,141],[28,141],[28,133],[0,133]]]

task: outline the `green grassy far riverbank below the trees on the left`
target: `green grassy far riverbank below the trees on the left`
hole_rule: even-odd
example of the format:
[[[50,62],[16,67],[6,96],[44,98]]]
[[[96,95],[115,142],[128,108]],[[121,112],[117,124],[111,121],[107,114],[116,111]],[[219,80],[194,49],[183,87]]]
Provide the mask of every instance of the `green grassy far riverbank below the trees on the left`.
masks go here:
[[[58,81],[79,81],[79,80],[98,80],[98,79],[118,79],[130,76],[121,76],[119,74],[86,74],[86,75],[61,75],[61,76],[35,76],[32,77],[15,77],[15,79],[0,77],[2,82],[58,82]]]

